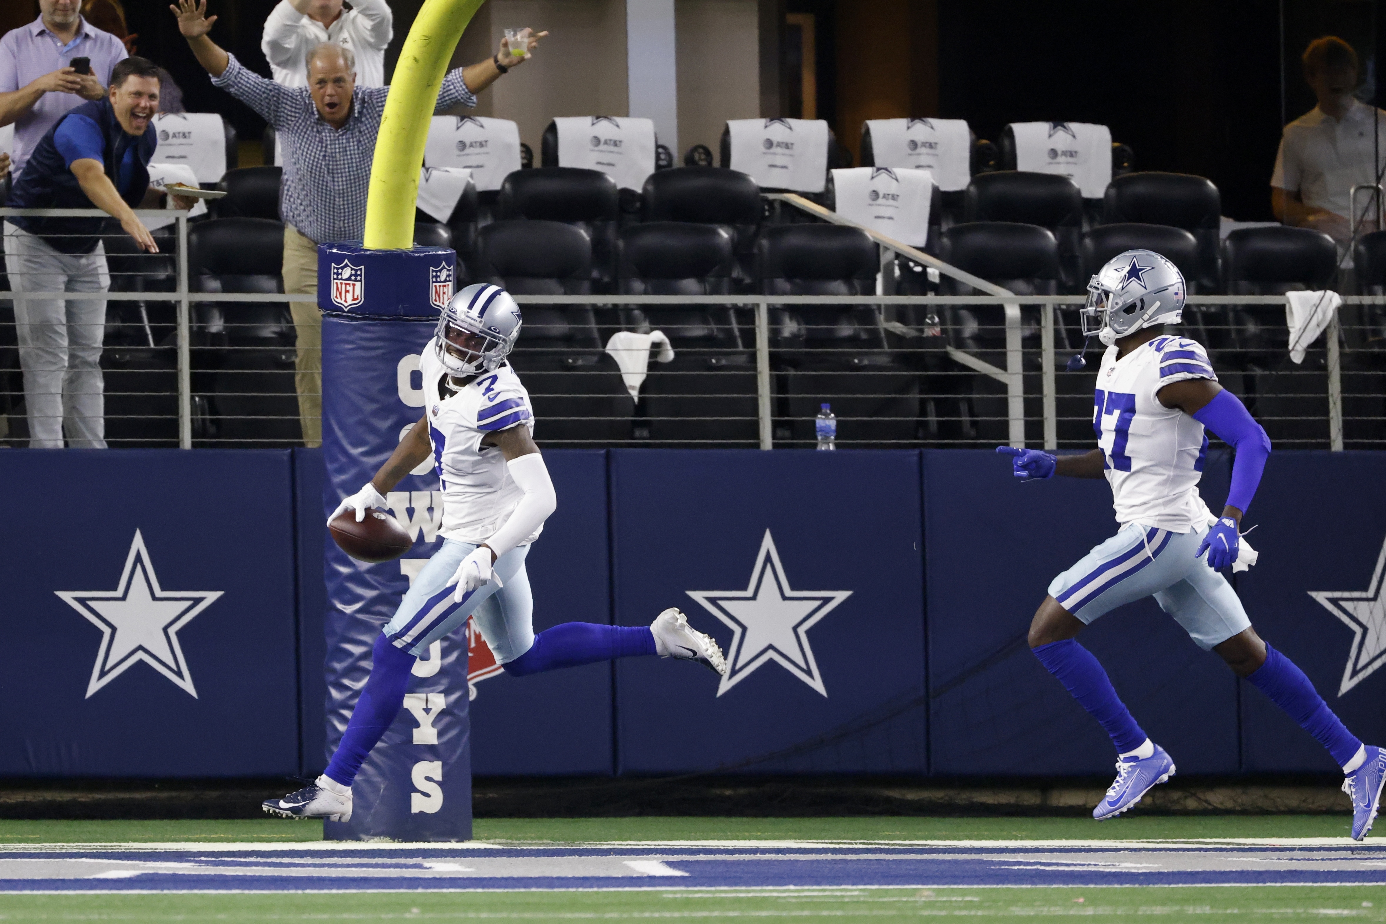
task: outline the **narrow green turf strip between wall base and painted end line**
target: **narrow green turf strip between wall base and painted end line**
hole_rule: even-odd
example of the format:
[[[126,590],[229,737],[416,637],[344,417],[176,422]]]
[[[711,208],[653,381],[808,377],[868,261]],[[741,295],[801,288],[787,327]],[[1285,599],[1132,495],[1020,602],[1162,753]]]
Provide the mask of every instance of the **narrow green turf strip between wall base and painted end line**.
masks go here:
[[[1242,837],[1347,837],[1351,819],[1335,815],[1131,816],[1112,821],[1073,817],[629,817],[478,819],[478,841],[710,841],[710,839],[1141,839]],[[284,819],[168,821],[0,820],[0,844],[112,841],[272,842],[319,841],[320,821]]]

